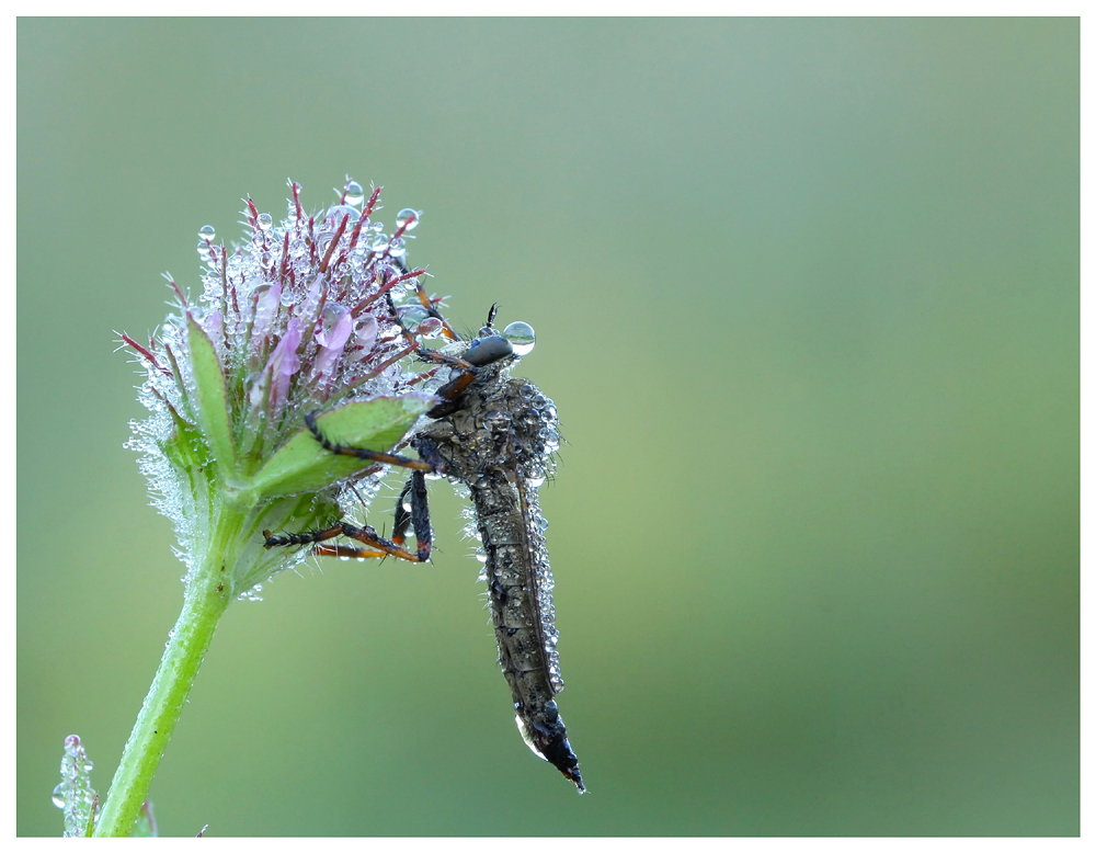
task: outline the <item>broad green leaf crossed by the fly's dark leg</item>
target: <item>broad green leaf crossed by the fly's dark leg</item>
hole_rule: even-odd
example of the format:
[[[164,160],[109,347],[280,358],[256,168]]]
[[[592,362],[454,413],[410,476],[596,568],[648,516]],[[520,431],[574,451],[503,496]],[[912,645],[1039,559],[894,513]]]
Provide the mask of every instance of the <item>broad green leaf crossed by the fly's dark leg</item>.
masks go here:
[[[419,416],[437,403],[429,394],[374,397],[340,406],[319,416],[317,425],[333,444],[387,453],[407,435]],[[260,498],[317,491],[375,463],[336,456],[302,429],[262,467],[251,481]]]

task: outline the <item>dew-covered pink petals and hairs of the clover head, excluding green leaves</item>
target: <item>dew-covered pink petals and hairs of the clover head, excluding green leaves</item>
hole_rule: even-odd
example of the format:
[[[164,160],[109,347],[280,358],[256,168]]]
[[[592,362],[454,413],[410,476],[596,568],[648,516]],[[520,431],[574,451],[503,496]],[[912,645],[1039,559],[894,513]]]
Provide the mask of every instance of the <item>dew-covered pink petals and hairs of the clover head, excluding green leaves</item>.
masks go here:
[[[174,522],[179,554],[189,568],[201,556],[203,531],[212,523],[209,501],[192,488],[194,469],[186,467],[195,454],[209,453],[195,403],[192,321],[212,344],[224,375],[231,447],[242,477],[300,433],[310,412],[358,399],[421,396],[444,379],[412,357],[419,340],[436,335],[439,323],[416,317],[403,330],[392,315],[392,305],[398,310],[419,306],[414,283],[427,280],[424,270],[407,263],[404,241],[390,240],[400,225],[390,221],[386,228],[378,217],[379,191],[367,194],[347,179],[333,203],[317,207],[308,205],[298,183],[288,185],[282,221],[246,200],[238,242],[218,243],[214,226],[202,226],[201,289],[187,294],[172,282],[175,304],[159,333],[147,345],[123,335],[144,368],[140,400],[150,411],[145,421],[132,423],[128,446],[142,453],[153,505]],[[400,216],[406,230],[418,223],[413,208]],[[185,453],[176,442],[181,430],[193,436]],[[375,466],[352,481],[339,481],[331,500],[359,513],[379,490],[383,474]],[[301,510],[294,512],[301,523]],[[279,520],[264,523],[274,526]],[[281,570],[302,555],[260,557]],[[240,589],[247,592],[253,583]]]

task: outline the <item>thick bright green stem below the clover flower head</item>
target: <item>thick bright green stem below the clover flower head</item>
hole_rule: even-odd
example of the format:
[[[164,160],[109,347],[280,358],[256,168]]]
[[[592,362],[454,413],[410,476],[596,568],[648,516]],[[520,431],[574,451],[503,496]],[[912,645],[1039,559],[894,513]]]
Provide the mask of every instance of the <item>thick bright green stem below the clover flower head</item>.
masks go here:
[[[213,641],[217,623],[232,600],[231,569],[242,523],[242,515],[230,511],[221,514],[202,565],[187,584],[183,610],[95,822],[96,837],[133,833],[137,814],[148,797],[152,776]]]

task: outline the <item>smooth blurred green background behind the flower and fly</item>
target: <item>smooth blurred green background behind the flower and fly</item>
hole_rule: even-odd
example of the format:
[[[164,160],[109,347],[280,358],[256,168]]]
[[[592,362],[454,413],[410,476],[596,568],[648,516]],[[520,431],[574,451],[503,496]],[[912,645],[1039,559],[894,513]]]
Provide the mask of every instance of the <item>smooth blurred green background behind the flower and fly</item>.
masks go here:
[[[591,794],[518,737],[443,482],[433,565],[229,610],[163,834],[1077,833],[1078,38],[20,20],[18,832],[69,733],[105,794],[181,603],[113,330],[350,173],[458,325],[537,330]]]

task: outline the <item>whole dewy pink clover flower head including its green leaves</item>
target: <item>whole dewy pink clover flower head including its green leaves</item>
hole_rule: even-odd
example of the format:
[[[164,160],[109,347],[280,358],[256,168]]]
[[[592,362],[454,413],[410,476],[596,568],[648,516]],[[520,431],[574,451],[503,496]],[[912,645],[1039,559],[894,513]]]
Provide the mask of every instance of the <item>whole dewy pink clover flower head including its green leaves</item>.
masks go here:
[[[362,505],[379,488],[384,471],[326,454],[306,414],[324,412],[344,443],[388,451],[434,401],[406,357],[443,327],[416,288],[425,271],[404,262],[420,213],[401,211],[389,235],[375,218],[379,189],[366,197],[347,179],[338,204],[308,214],[289,186],[279,225],[247,200],[239,246],[203,227],[202,293],[187,298],[169,277],[178,302],[159,334],[147,346],[123,335],[146,374],[151,414],[129,445],[145,454],[155,504],[192,571],[227,547],[213,533],[225,509],[240,516],[237,594],[299,559],[265,551],[255,531],[330,521],[340,501]]]

